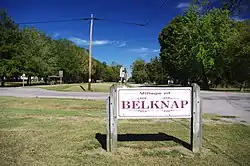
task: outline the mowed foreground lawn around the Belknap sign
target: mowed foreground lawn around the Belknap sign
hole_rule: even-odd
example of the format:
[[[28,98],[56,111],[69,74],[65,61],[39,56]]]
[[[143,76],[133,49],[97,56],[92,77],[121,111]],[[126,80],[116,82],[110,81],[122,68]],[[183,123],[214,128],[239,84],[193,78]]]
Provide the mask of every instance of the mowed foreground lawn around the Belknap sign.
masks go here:
[[[0,165],[248,165],[250,127],[217,120],[203,124],[200,154],[171,139],[140,141],[189,142],[189,120],[121,120],[119,134],[138,134],[123,140],[137,141],[119,141],[112,154],[101,145],[104,101],[0,97]]]

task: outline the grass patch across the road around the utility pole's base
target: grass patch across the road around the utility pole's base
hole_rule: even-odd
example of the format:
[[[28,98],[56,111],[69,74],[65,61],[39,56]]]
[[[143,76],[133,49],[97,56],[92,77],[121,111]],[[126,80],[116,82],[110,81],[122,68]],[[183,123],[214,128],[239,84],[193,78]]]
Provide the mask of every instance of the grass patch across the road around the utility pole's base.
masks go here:
[[[116,83],[92,83],[91,91],[93,92],[109,92],[110,87]],[[88,83],[82,84],[57,84],[57,85],[42,85],[36,86],[46,90],[55,90],[55,91],[65,91],[65,92],[84,92],[80,87],[82,86],[85,91],[88,91]]]

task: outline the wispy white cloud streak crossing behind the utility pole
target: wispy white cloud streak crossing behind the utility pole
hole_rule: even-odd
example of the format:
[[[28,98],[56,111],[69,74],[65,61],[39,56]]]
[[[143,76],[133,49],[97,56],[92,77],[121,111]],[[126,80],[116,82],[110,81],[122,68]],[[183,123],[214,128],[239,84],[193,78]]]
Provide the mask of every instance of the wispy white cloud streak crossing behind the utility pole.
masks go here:
[[[78,37],[70,37],[68,38],[70,41],[74,42],[75,44],[79,45],[79,46],[88,46],[89,45],[89,41],[88,40],[84,40]],[[123,41],[115,41],[115,40],[93,40],[92,41],[92,45],[107,45],[107,44],[112,44],[115,45],[117,47],[125,47],[127,44],[126,42]]]

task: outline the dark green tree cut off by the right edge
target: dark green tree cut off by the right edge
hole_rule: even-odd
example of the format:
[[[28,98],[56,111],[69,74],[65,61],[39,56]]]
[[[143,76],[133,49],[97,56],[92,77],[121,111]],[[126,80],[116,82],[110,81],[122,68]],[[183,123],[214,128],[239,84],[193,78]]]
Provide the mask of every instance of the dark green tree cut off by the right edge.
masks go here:
[[[241,91],[250,80],[250,24],[238,23],[233,35],[223,50],[225,77],[231,84],[240,83]]]

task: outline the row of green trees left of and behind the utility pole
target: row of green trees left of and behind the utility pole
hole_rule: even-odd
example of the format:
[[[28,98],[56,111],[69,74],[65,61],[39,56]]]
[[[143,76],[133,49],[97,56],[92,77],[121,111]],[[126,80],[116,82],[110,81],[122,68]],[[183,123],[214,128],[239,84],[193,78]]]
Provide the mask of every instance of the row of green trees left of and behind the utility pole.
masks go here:
[[[19,28],[7,14],[0,11],[0,80],[18,78],[23,73],[28,77],[44,78],[63,71],[63,81],[88,81],[88,50],[67,39],[54,40],[36,28]],[[118,81],[121,65],[107,65],[92,58],[92,79]]]

